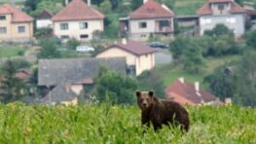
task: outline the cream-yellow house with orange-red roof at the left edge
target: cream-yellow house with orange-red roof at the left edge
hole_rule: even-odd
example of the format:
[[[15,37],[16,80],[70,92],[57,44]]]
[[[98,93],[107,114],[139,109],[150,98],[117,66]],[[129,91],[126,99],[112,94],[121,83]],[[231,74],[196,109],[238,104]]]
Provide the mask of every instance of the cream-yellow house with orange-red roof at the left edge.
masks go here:
[[[11,4],[0,6],[0,41],[27,41],[33,38],[33,18]]]

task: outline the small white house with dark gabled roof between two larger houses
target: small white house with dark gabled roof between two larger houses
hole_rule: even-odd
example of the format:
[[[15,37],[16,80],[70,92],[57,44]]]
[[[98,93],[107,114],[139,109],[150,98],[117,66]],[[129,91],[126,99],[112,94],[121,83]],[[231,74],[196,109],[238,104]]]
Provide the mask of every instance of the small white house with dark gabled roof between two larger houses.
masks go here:
[[[53,27],[53,14],[47,10],[44,10],[37,18],[36,18],[36,28],[43,27]]]

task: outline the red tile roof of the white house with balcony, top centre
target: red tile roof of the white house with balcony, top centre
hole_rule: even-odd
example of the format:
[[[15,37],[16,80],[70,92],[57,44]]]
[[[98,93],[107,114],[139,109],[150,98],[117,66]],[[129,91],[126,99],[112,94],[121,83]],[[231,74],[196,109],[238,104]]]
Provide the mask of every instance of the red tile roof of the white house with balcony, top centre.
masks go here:
[[[155,2],[154,0],[148,0],[137,10],[132,12],[129,16],[130,19],[141,18],[172,18],[174,13],[166,6]]]

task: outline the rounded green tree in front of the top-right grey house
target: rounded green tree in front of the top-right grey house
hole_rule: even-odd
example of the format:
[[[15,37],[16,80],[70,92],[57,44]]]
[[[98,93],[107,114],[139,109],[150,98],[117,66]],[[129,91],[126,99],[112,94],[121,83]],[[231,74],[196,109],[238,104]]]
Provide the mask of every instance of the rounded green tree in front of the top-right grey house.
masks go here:
[[[204,31],[204,35],[211,37],[218,37],[222,35],[234,36],[234,32],[230,30],[225,24],[217,24],[212,30]]]

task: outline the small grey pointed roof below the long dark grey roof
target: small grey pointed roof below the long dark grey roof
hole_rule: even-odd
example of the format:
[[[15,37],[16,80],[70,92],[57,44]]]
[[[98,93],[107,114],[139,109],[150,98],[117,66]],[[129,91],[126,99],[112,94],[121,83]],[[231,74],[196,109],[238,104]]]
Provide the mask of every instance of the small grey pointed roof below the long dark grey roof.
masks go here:
[[[42,103],[60,103],[62,101],[71,101],[79,95],[72,90],[66,90],[64,84],[59,84],[54,90],[51,90],[43,99]]]

